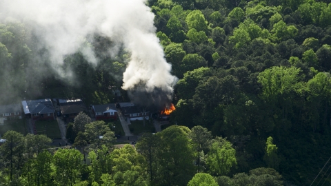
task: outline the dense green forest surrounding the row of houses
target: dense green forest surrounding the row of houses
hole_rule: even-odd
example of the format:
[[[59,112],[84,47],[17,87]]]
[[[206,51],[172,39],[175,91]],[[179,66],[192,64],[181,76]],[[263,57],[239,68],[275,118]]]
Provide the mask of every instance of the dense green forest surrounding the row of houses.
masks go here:
[[[179,78],[173,126],[143,135],[137,151],[114,149],[112,138],[101,144],[85,128],[75,143],[88,151],[88,164],[76,149],[42,150],[45,136],[8,132],[0,183],[310,185],[331,156],[331,1],[146,3]],[[74,72],[68,78],[52,70],[32,31],[20,21],[0,25],[1,105],[46,97],[114,102],[130,52],[111,57],[112,39],[91,36],[86,44],[99,63],[68,55],[59,66]],[[329,175],[324,170],[313,185],[330,184]]]

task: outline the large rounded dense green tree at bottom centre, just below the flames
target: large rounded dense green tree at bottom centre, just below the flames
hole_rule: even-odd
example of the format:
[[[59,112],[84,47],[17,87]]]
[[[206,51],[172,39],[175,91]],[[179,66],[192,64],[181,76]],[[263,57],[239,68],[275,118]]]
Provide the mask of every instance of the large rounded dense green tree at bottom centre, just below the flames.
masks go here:
[[[188,127],[172,125],[160,135],[158,157],[159,185],[186,185],[194,176],[194,150],[190,145]],[[185,158],[183,158],[185,157]]]

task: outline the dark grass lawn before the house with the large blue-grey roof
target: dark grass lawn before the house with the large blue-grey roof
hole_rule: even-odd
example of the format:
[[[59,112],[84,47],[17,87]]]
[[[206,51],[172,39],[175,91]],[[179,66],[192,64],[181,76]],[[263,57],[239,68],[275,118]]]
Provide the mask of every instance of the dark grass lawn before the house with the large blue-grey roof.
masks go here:
[[[61,138],[59,125],[56,120],[53,121],[36,121],[37,134],[46,134],[48,138]]]

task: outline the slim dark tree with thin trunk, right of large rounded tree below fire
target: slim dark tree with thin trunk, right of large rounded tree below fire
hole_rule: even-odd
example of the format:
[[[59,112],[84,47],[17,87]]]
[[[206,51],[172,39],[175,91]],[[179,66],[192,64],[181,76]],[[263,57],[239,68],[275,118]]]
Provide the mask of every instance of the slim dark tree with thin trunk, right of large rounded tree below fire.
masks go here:
[[[201,172],[200,169],[200,161],[201,161],[201,151],[205,151],[210,147],[212,140],[212,132],[208,131],[205,127],[201,127],[200,125],[192,127],[190,133],[191,141],[194,145],[194,149],[197,152],[197,165],[198,172]]]

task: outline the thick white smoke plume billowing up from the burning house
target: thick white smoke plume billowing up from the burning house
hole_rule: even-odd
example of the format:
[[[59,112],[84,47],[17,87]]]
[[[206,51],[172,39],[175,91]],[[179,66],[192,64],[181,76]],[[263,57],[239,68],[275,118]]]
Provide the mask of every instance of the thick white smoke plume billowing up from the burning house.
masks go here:
[[[123,73],[124,90],[138,86],[146,92],[158,89],[171,96],[177,82],[155,35],[154,14],[144,0],[2,0],[0,18],[32,26],[61,76],[68,76],[59,68],[68,54],[79,51],[90,63],[98,62],[85,39],[99,34],[131,54]]]

